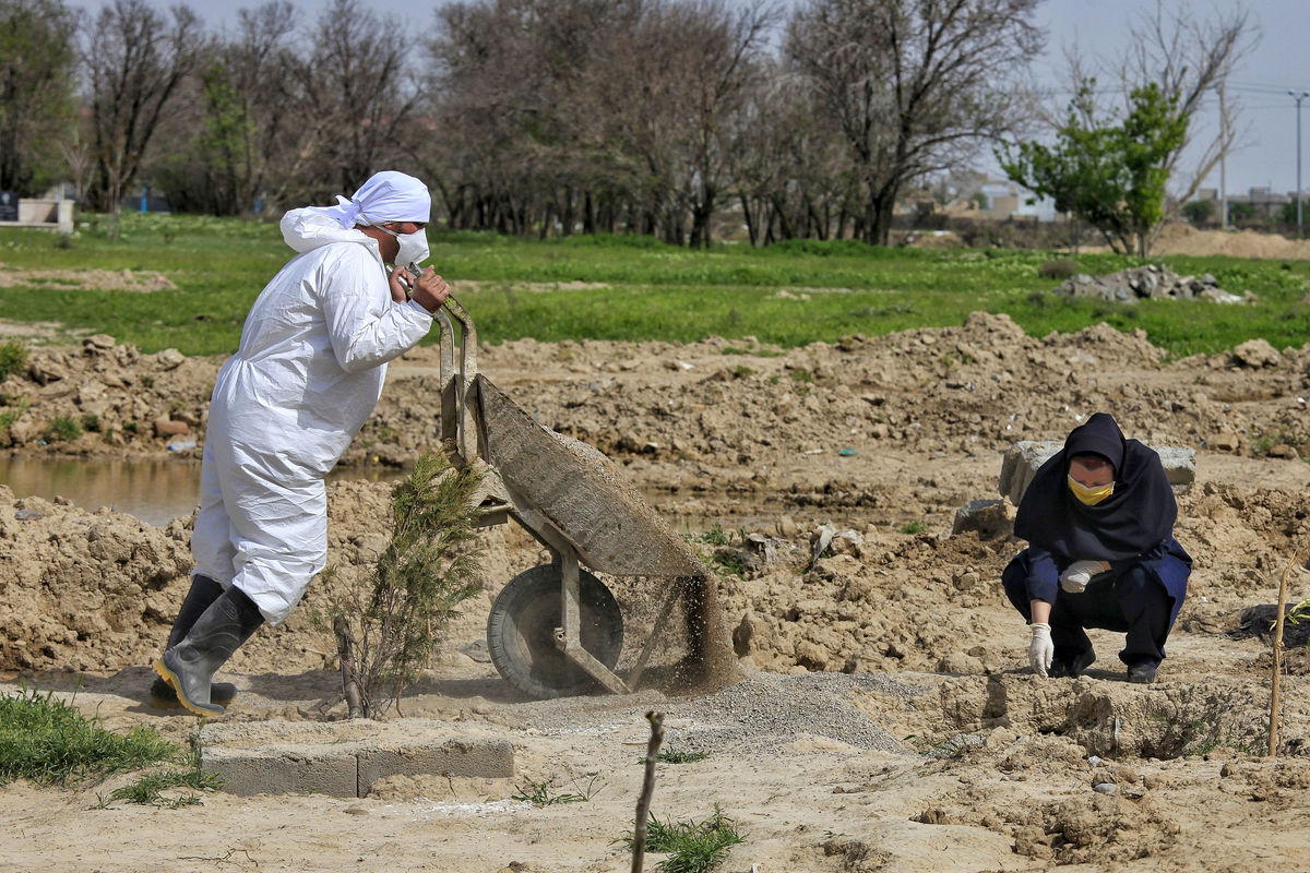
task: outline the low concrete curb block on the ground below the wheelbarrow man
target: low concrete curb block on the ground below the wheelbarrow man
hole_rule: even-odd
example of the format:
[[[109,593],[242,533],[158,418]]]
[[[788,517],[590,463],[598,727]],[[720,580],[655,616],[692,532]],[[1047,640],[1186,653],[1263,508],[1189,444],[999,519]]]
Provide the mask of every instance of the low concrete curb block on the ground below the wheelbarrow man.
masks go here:
[[[508,739],[430,719],[214,722],[200,730],[200,768],[238,796],[363,797],[388,776],[515,775]]]

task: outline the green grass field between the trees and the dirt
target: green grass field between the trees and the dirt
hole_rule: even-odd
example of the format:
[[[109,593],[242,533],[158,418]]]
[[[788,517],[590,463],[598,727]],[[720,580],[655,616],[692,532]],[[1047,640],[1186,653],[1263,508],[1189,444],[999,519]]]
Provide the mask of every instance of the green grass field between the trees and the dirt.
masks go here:
[[[128,213],[122,226],[118,240],[106,237],[98,216],[84,219],[68,240],[0,230],[0,270],[38,271],[25,284],[0,284],[0,318],[106,332],[144,352],[231,353],[250,302],[291,255],[274,224]],[[1171,356],[1217,352],[1256,336],[1276,348],[1310,339],[1310,262],[1301,260],[1167,257],[1161,260],[1176,272],[1210,272],[1226,291],[1254,292],[1259,302],[1116,305],[1051,294],[1058,280],[1039,270],[1065,255],[1049,251],[875,249],[850,241],[690,251],[650,238],[538,242],[440,230],[430,232],[430,241],[439,272],[477,283],[460,291],[460,300],[490,343],[753,335],[793,347],[954,326],[977,310],[1007,313],[1035,336],[1102,321],[1142,329]],[[1082,255],[1078,270],[1096,275],[1137,263]],[[86,268],[159,271],[177,291],[88,291],[39,276]]]

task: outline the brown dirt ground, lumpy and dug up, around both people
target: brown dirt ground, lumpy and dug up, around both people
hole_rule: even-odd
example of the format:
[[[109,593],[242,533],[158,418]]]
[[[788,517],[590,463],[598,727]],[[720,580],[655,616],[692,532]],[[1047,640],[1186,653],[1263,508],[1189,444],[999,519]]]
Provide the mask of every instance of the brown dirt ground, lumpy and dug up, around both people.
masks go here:
[[[643,713],[656,709],[665,749],[710,755],[662,764],[652,811],[702,819],[718,805],[744,836],[723,870],[1310,869],[1302,626],[1289,628],[1280,755],[1263,754],[1280,576],[1293,601],[1310,597],[1310,572],[1290,565],[1310,543],[1310,344],[1166,364],[1140,332],[1098,325],[1032,339],[975,314],[786,352],[523,340],[478,361],[541,424],[620,463],[722,571],[740,678],[690,696],[525,699],[489,664],[485,620],[499,588],[548,558],[523,530],[489,527],[485,592],[403,715],[510,739],[515,779],[394,777],[359,800],[215,793],[181,810],[96,809],[121,781],[18,781],[0,788],[0,866],[626,870],[614,840],[633,823]],[[149,423],[199,437],[220,364],[110,338],[41,349],[29,374],[0,386],[28,403],[8,450],[198,452],[168,453],[178,435]],[[403,465],[438,445],[436,364],[430,349],[393,364],[348,463]],[[1176,526],[1195,569],[1153,686],[1124,681],[1121,637],[1108,632],[1093,632],[1085,677],[1032,675],[1027,631],[1000,586],[1023,543],[952,534],[960,507],[998,496],[1010,445],[1062,438],[1094,411],[1132,437],[1196,450]],[[85,414],[98,432],[39,442],[45,421]],[[359,579],[385,542],[388,491],[331,486],[333,585]],[[825,525],[837,535],[816,558]],[[186,590],[189,526],[0,487],[0,688],[80,683],[76,704],[106,726],[148,724],[187,742],[195,719],[151,708],[144,691]],[[607,581],[625,615],[658,585]],[[228,724],[345,717],[333,643],[308,618],[326,594],[312,586],[284,626],[232,660],[241,696]],[[629,640],[645,627],[635,620]],[[514,800],[529,783],[591,800]]]

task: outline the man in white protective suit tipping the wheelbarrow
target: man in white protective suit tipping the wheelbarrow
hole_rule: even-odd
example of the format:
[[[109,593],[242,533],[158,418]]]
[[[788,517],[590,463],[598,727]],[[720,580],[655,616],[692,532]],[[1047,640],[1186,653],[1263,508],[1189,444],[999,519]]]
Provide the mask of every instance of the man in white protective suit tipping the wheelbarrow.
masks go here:
[[[431,267],[417,279],[403,268],[428,255],[422,182],[383,171],[337,200],[283,216],[299,254],[254,301],[214,386],[195,569],[155,662],[156,705],[214,716],[236,696],[215,670],[265,620],[286,619],[324,568],[324,478],[377,403],[386,361],[427,334],[451,293]]]

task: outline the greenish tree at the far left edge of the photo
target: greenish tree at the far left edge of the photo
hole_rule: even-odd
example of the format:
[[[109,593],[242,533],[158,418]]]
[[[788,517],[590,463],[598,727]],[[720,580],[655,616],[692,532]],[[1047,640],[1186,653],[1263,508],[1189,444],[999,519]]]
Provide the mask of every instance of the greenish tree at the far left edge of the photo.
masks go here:
[[[34,194],[52,169],[52,145],[73,127],[76,31],[76,13],[60,0],[0,0],[3,191]]]

